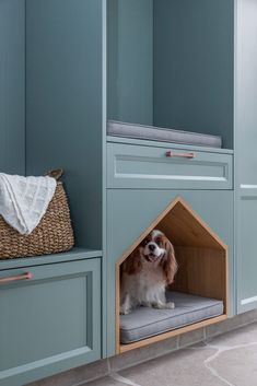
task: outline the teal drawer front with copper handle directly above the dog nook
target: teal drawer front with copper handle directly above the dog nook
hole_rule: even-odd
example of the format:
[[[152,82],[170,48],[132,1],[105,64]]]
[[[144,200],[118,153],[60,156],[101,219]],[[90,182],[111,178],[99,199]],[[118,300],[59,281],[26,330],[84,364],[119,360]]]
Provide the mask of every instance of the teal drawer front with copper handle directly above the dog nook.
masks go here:
[[[232,189],[232,155],[171,148],[107,144],[107,187]]]

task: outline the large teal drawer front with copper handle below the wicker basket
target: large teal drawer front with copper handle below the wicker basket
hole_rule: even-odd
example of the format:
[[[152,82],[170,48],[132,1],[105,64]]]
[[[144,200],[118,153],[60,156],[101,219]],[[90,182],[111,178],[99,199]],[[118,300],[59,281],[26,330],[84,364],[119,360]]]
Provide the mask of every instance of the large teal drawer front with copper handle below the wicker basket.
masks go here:
[[[97,258],[0,272],[1,386],[101,358],[100,283]]]

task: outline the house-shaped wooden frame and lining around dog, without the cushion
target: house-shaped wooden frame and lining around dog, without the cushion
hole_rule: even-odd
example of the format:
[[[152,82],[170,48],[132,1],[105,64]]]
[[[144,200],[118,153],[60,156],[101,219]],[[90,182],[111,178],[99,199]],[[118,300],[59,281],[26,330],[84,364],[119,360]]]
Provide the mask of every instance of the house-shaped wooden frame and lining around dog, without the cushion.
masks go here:
[[[173,243],[180,267],[172,288],[185,293],[222,300],[224,314],[137,342],[121,344],[119,332],[120,265],[155,227],[163,231]],[[127,352],[226,319],[227,274],[227,246],[180,197],[176,197],[116,261],[116,353]]]

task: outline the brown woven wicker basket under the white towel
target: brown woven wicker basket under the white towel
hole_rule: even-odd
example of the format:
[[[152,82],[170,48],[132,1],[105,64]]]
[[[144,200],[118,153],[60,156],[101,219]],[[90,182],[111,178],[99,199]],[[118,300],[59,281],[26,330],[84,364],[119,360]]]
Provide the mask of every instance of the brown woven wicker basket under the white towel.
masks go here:
[[[48,173],[56,179],[61,174],[62,171]],[[56,254],[69,250],[73,245],[69,206],[60,182],[45,215],[30,235],[21,235],[0,215],[0,259]]]

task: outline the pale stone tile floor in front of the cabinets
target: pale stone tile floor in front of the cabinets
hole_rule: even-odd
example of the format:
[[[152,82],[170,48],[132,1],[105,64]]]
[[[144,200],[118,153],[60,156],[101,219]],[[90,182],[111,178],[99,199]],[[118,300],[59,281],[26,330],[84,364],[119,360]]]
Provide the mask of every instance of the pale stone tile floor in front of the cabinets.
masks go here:
[[[85,386],[256,386],[257,323]]]

